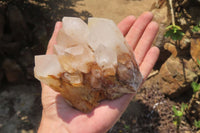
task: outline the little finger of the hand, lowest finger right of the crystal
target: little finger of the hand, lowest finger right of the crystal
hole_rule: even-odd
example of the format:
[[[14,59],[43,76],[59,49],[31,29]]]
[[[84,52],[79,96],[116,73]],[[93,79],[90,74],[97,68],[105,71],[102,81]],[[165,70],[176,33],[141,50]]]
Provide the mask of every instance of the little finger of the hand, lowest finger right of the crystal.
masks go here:
[[[160,50],[157,47],[152,47],[147,52],[146,56],[144,57],[144,60],[142,64],[140,65],[140,71],[146,79],[146,77],[149,75],[151,70],[153,69],[153,66],[155,65],[158,56],[159,56]]]

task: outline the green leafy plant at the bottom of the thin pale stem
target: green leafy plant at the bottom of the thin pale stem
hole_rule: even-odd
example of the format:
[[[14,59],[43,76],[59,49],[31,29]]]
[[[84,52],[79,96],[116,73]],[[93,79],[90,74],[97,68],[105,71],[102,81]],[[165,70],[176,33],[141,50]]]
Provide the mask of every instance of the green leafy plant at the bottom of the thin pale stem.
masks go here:
[[[185,35],[182,32],[181,27],[178,25],[170,25],[166,29],[167,29],[167,32],[165,33],[165,37],[170,37],[174,41],[177,41],[177,40],[180,41]]]

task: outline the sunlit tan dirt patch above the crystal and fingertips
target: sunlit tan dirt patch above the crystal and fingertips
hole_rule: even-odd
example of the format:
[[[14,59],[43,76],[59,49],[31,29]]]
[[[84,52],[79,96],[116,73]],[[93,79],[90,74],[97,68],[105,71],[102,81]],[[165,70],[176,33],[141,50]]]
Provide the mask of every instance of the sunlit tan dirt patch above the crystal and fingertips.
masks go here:
[[[83,0],[78,1],[74,9],[88,11],[93,17],[109,18],[116,23],[128,15],[139,16],[149,11],[156,0]]]

